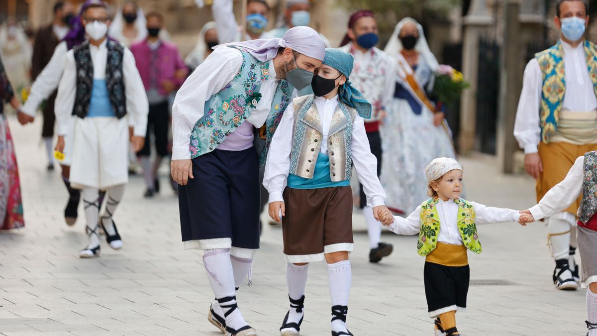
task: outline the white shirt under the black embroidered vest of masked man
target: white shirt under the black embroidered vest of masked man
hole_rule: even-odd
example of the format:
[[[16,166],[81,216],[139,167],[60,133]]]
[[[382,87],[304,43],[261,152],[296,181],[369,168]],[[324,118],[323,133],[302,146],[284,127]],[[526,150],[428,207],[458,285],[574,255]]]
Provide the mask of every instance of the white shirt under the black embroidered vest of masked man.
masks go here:
[[[99,47],[93,44],[89,45],[94,80],[104,80],[106,78],[106,43],[107,39]],[[73,50],[66,53],[63,68],[64,72],[60,78],[54,107],[58,135],[67,134],[68,121],[75,106],[76,63]],[[147,103],[147,94],[145,93],[143,81],[141,81],[141,76],[135,65],[135,57],[128,48],[124,48],[124,56],[122,57],[122,78],[124,80],[127,114],[129,115],[128,120],[134,127],[134,135],[145,136],[149,103]]]

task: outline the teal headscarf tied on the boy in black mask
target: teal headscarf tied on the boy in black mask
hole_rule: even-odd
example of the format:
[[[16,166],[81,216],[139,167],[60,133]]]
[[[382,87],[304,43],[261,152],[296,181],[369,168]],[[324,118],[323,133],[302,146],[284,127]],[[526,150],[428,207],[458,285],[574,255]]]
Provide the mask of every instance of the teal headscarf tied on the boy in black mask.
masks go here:
[[[340,96],[340,99],[346,105],[355,108],[361,117],[368,119],[371,118],[371,104],[348,81],[354,62],[355,60],[351,54],[344,53],[344,51],[336,48],[325,48],[324,64],[331,66],[340,71],[340,74],[346,76],[346,83],[338,90],[338,96]]]

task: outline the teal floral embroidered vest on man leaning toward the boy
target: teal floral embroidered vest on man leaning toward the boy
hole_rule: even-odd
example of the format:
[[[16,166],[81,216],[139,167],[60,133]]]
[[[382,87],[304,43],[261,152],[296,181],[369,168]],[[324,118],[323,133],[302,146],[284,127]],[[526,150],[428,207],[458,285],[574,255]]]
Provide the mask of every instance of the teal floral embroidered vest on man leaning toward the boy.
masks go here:
[[[255,108],[261,99],[261,82],[268,78],[269,61],[260,62],[250,53],[242,51],[242,65],[236,77],[205,102],[205,114],[193,127],[189,145],[191,158],[216,149],[236,127],[247,120],[251,115],[251,109]],[[294,87],[287,81],[279,81],[270,114],[265,122],[266,146],[260,154],[261,165],[265,163],[267,148],[282,120],[284,110],[290,103],[293,90]]]

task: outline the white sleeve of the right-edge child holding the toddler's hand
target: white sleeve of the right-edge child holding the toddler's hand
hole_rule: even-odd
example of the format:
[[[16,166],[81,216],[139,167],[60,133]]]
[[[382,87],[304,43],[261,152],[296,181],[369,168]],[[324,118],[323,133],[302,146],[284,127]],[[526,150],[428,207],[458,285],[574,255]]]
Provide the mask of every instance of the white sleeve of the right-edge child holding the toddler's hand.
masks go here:
[[[529,209],[536,221],[562,212],[577,200],[583,192],[584,156],[578,157],[566,178],[556,184],[541,198],[536,206]]]

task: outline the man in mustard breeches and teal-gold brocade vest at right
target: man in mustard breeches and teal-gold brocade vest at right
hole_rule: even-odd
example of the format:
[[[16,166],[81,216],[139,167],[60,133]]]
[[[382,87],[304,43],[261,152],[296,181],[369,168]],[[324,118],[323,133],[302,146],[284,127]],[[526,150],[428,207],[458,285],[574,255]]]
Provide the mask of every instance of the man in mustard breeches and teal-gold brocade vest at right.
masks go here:
[[[559,0],[561,40],[528,62],[514,135],[525,169],[537,179],[537,201],[564,179],[574,160],[597,149],[597,47],[583,38],[589,22],[584,0]],[[576,212],[580,198],[549,218],[547,239],[556,288],[578,287]]]

